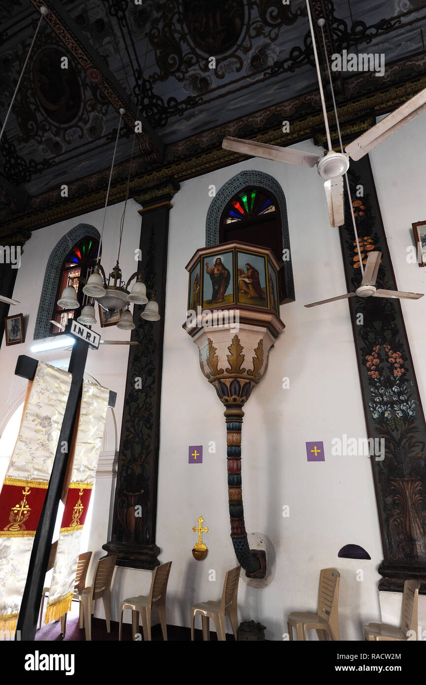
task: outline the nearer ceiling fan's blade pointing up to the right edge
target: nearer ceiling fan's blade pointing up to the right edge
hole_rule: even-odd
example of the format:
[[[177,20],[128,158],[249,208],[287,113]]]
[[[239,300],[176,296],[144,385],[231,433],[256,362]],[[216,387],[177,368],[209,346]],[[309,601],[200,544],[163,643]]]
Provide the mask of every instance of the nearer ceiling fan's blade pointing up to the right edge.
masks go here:
[[[403,125],[414,119],[414,116],[426,109],[426,88],[414,95],[408,102],[385,116],[379,123],[368,129],[362,136],[355,138],[344,149],[353,160],[360,160],[366,153],[392,136]]]

